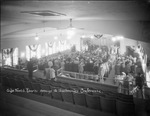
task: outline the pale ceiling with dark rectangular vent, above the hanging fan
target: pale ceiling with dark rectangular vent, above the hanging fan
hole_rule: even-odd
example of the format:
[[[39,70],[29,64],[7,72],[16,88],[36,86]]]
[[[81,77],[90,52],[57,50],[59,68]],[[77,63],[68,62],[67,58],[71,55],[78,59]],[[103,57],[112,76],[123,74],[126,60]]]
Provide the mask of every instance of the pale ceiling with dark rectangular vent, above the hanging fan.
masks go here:
[[[45,13],[42,16],[35,14],[35,11],[39,13],[50,11],[50,13],[56,12],[63,15],[48,14],[47,16]],[[149,14],[147,3],[134,0],[15,2],[3,0],[1,2],[1,38],[33,36],[43,30],[56,31],[58,27],[67,27],[70,18],[79,23],[89,20],[149,21]],[[80,27],[80,25],[77,26]]]

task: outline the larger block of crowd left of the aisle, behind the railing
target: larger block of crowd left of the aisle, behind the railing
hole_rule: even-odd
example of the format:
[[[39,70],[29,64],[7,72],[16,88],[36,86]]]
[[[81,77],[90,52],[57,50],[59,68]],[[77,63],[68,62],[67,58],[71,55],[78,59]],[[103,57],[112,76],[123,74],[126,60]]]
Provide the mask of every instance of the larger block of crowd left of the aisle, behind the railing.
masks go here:
[[[114,62],[114,54],[111,54],[107,46],[95,50],[76,51],[68,54],[58,54],[57,57],[45,57],[38,62],[39,70],[48,68],[48,62],[52,62],[52,68],[57,70],[99,75],[99,78],[108,77]]]

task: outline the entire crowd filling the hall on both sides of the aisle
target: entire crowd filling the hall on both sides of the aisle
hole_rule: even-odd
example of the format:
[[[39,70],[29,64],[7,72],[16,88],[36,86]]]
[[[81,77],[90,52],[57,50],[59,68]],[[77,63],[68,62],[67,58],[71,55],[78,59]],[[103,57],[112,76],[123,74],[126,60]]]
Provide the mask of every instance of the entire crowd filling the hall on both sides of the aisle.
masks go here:
[[[58,53],[55,57],[47,56],[41,58],[36,63],[38,69],[44,72],[47,79],[55,79],[57,70],[61,69],[62,73],[63,71],[70,71],[98,75],[100,81],[108,77],[114,66],[114,82],[118,83],[121,88],[120,92],[132,94],[135,87],[143,92],[142,88],[145,82],[145,75],[141,65],[143,54],[140,47],[131,47],[133,53],[125,55],[120,55],[118,48],[118,46],[102,46],[80,52]],[[31,68],[30,65],[27,66],[28,69]],[[32,76],[31,72],[29,71],[29,77]]]

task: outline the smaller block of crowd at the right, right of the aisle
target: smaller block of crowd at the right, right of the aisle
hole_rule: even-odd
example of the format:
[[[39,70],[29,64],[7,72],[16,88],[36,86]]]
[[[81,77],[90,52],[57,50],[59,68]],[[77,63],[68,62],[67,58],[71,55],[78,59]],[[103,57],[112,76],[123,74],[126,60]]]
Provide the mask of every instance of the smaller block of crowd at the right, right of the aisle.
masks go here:
[[[115,65],[115,82],[118,82],[120,92],[124,94],[134,94],[144,98],[143,86],[145,82],[145,74],[141,60],[144,57],[140,47],[133,47],[133,52],[126,56],[119,56]]]

